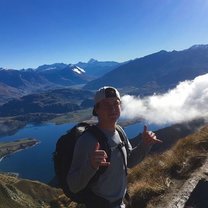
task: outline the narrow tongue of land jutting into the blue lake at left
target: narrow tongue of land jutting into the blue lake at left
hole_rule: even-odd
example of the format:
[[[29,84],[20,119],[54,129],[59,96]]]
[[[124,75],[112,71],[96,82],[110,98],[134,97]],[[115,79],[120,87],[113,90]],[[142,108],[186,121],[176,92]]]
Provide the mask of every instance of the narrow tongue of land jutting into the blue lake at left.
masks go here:
[[[24,138],[10,142],[0,142],[0,159],[14,152],[36,145],[38,141],[33,138]]]

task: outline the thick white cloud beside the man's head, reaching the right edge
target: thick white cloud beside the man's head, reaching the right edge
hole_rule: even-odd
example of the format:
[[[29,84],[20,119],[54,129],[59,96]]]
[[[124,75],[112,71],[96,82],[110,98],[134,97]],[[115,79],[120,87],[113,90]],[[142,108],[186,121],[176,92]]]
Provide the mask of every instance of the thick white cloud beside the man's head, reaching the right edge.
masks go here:
[[[165,94],[122,97],[123,119],[139,118],[149,123],[173,124],[199,117],[208,117],[208,74],[183,81]]]

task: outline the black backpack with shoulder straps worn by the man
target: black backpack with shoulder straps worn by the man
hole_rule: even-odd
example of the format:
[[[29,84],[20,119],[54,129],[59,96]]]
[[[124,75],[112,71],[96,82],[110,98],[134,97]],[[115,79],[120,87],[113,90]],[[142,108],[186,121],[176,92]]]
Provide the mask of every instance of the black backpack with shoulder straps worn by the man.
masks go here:
[[[119,125],[117,125],[116,129],[122,141],[120,147],[125,146],[128,154],[129,151],[127,148],[128,143],[127,143],[126,135]],[[72,127],[72,129],[68,131],[67,134],[61,136],[56,143],[56,149],[55,152],[53,153],[53,162],[54,162],[54,169],[56,175],[55,177],[58,182],[57,187],[62,188],[64,194],[67,197],[69,197],[72,201],[75,201],[77,203],[85,203],[86,200],[90,199],[92,192],[90,192],[89,190],[89,185],[95,182],[99,178],[99,176],[103,174],[107,169],[107,167],[100,167],[97,170],[96,174],[91,178],[88,185],[80,192],[73,193],[72,191],[70,191],[67,185],[67,174],[72,163],[74,147],[77,139],[86,131],[90,132],[92,135],[95,136],[95,138],[100,143],[100,149],[105,150],[108,155],[107,161],[110,161],[111,150],[107,143],[105,134],[98,127],[96,127],[96,125],[89,124],[86,122],[78,123],[77,125]],[[118,148],[120,149],[120,147]],[[123,151],[121,150],[121,152],[124,160]],[[125,168],[127,173],[126,165]]]

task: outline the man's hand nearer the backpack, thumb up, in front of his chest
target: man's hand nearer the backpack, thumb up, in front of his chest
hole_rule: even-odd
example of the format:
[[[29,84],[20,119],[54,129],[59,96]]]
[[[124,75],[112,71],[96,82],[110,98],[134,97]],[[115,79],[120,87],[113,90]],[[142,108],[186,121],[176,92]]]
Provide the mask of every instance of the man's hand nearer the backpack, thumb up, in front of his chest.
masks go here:
[[[100,144],[97,142],[95,149],[91,155],[91,165],[94,169],[100,166],[109,166],[110,162],[106,162],[107,154],[104,150],[100,150]]]

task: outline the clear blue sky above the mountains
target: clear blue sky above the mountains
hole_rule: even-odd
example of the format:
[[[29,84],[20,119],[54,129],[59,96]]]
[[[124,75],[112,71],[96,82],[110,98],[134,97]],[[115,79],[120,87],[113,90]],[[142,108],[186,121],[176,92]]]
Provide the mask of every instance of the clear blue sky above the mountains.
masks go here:
[[[0,67],[127,61],[208,44],[208,0],[0,0]]]

